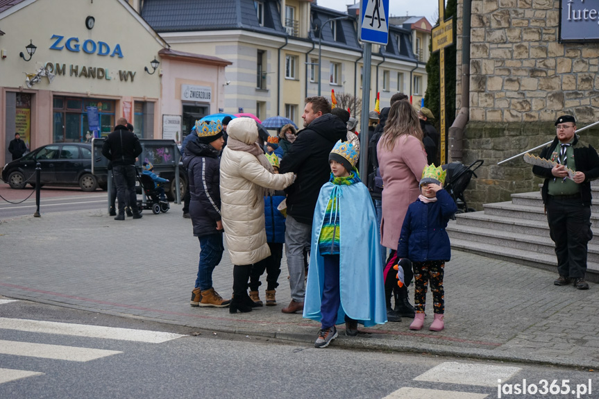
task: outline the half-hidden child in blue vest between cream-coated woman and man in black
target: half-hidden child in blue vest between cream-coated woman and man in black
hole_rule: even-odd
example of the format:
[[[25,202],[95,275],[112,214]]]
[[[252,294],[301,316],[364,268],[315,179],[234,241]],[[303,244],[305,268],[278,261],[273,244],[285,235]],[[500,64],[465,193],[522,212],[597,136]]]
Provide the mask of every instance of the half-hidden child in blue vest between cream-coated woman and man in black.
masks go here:
[[[279,173],[279,158],[276,153],[266,154],[267,159],[273,165],[274,173]],[[285,243],[285,215],[277,209],[278,205],[285,199],[285,192],[276,191],[274,194],[264,196],[264,221],[267,230],[267,244],[271,249],[271,255],[260,262],[253,264],[250,273],[250,298],[262,306],[258,287],[262,284],[260,276],[267,271],[267,306],[274,306],[276,301],[277,279],[281,273],[281,260],[283,257],[283,243]]]

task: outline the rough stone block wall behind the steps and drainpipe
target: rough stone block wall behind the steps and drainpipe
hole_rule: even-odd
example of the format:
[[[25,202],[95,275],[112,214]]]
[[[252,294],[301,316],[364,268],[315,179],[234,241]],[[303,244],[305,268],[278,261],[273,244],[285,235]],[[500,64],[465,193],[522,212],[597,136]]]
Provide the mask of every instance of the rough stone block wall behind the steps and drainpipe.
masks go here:
[[[560,44],[559,0],[473,0],[470,113],[464,164],[484,159],[466,195],[475,208],[538,189],[522,160],[496,163],[555,137],[571,114],[578,128],[599,120],[599,44]],[[462,11],[457,7],[457,110],[462,104]],[[582,132],[597,144],[599,130]],[[470,205],[470,204],[469,204]]]

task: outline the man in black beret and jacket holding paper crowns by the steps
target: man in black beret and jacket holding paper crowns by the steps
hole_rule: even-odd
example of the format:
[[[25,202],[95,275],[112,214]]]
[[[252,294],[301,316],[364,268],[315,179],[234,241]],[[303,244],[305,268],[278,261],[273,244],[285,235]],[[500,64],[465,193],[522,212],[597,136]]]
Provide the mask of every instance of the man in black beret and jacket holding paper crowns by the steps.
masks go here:
[[[557,162],[556,166],[532,167],[532,173],[545,179],[541,196],[559,273],[553,284],[568,285],[573,280],[577,289],[589,289],[584,274],[587,243],[593,238],[591,180],[599,178],[599,155],[575,135],[576,121],[571,115],[557,118],[555,126],[557,137],[543,148],[540,157]]]

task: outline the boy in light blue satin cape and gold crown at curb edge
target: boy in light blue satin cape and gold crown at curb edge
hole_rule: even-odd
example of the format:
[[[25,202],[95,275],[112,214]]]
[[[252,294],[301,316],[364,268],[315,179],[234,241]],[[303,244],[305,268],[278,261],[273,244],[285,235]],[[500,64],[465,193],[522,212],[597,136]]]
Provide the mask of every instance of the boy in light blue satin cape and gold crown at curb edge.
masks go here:
[[[343,321],[348,336],[357,335],[357,323],[387,322],[376,213],[355,169],[358,155],[348,142],[335,144],[314,209],[303,316],[321,322],[316,348],[328,346]]]

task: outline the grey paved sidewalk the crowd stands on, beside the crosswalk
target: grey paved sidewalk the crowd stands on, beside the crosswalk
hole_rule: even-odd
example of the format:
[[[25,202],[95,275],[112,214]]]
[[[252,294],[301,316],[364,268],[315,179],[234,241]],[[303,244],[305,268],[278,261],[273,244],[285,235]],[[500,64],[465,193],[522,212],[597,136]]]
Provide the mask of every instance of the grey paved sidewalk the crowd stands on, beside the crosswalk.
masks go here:
[[[277,306],[245,314],[190,307],[199,242],[181,214],[176,204],[165,214],[145,211],[140,220],[120,222],[106,210],[0,214],[0,295],[312,345],[319,323],[280,312],[290,300],[285,257]],[[556,275],[453,251],[446,264],[446,330],[428,331],[429,292],[423,330],[411,331],[412,320],[404,319],[368,329],[370,336],[341,331],[332,346],[598,368],[598,285],[589,291],[555,287]],[[213,278],[214,288],[230,298],[233,266],[226,251]]]

